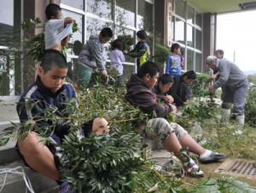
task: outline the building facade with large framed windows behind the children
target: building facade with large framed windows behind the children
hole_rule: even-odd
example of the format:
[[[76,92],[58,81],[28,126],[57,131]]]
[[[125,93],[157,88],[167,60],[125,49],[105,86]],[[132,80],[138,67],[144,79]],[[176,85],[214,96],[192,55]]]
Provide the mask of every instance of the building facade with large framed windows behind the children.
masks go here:
[[[171,47],[179,43],[184,50],[184,70],[204,72],[203,64],[215,48],[215,14],[201,14],[183,0],[1,0],[0,7],[0,96],[19,95],[34,80],[35,62],[26,53],[8,53],[9,48],[22,50],[22,41],[29,34],[44,31],[44,9],[48,3],[61,6],[63,17],[73,17],[79,31],[68,43],[69,76],[73,78],[79,52],[90,35],[97,35],[102,27],[113,29],[114,37],[132,38],[136,32],[148,32],[147,43],[154,56],[155,43]],[[20,23],[40,18],[42,25],[23,31]],[[108,59],[109,44],[106,45]],[[131,45],[132,48],[132,45]],[[160,64],[163,66],[163,64]],[[136,71],[135,60],[125,61],[125,76]]]

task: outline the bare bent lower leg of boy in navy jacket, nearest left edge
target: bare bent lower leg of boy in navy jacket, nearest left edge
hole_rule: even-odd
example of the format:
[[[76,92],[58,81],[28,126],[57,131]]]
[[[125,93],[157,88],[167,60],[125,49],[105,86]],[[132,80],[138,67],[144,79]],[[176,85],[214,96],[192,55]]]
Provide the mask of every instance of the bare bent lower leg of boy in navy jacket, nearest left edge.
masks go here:
[[[49,148],[40,142],[38,133],[28,133],[26,138],[18,143],[20,154],[32,169],[43,173],[50,179],[60,179],[61,173],[55,166],[55,158]]]

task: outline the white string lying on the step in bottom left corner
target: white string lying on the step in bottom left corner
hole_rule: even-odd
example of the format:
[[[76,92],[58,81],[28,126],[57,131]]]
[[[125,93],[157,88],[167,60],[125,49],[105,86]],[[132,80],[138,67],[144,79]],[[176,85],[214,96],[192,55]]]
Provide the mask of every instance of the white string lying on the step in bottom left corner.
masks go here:
[[[19,169],[21,170],[21,172],[19,171]],[[2,187],[0,189],[0,192],[3,190],[3,187],[6,184],[7,176],[8,176],[9,173],[14,173],[14,174],[21,175],[22,178],[24,179],[25,184],[26,184],[26,192],[27,192],[27,190],[29,190],[31,193],[35,193],[34,190],[32,189],[32,184],[30,182],[30,179],[28,178],[28,176],[24,172],[23,167],[20,167],[20,166],[15,167],[15,168],[0,168],[0,175],[4,174],[3,184],[2,184]]]

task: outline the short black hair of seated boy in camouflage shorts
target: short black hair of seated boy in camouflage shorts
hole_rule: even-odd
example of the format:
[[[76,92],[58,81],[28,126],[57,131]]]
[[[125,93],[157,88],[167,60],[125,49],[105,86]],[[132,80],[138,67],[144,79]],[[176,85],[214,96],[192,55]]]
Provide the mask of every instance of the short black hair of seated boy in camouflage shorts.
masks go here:
[[[158,65],[156,65],[152,61],[146,61],[143,65],[141,65],[137,71],[137,77],[143,78],[146,74],[149,74],[150,77],[154,77],[154,75],[160,72]]]

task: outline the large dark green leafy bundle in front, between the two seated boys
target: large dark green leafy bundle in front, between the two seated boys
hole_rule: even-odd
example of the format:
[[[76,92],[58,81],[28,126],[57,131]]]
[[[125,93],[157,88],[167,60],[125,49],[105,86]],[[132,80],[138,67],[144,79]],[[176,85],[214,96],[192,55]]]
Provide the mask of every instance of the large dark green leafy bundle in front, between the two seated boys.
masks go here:
[[[62,148],[65,150],[63,175],[79,192],[146,190],[159,180],[152,163],[147,160],[141,137],[129,126],[112,127],[108,134],[91,133],[82,139],[71,133],[66,136]],[[145,170],[151,176],[141,175]]]

